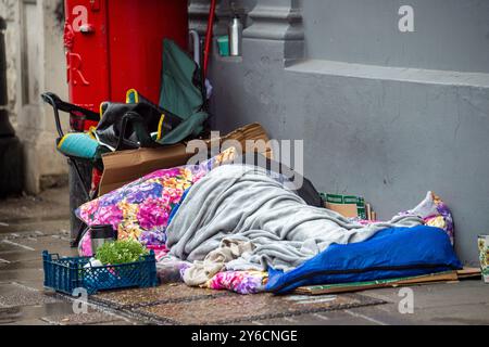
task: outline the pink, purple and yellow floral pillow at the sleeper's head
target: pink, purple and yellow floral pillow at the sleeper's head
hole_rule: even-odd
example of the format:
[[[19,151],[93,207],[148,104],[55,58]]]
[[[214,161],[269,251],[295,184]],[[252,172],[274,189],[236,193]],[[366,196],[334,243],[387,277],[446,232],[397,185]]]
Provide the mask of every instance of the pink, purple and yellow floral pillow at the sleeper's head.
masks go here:
[[[147,246],[164,246],[173,207],[184,192],[208,171],[206,165],[162,169],[82,205],[76,215],[87,226],[111,224],[118,239],[134,239]],[[82,253],[91,255],[89,236]]]

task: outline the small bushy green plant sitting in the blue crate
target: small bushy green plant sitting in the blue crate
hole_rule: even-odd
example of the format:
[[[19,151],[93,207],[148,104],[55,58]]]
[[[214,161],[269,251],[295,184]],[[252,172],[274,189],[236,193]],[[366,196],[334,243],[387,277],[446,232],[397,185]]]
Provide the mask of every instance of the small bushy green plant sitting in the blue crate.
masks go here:
[[[148,249],[137,241],[121,240],[102,244],[97,248],[96,258],[103,265],[118,265],[134,262],[148,253]]]

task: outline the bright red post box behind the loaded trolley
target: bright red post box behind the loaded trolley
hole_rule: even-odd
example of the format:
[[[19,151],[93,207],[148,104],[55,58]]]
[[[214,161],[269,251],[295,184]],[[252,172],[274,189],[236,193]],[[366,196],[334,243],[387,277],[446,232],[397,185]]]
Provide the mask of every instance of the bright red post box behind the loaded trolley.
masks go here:
[[[72,103],[98,112],[130,88],[158,103],[163,38],[187,47],[186,0],[65,0],[65,13]]]

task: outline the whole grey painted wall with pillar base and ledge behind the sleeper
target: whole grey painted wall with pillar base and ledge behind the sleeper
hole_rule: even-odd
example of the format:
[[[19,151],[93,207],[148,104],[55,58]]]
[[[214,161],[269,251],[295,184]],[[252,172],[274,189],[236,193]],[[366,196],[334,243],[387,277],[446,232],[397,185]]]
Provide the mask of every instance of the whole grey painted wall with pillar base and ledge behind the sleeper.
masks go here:
[[[397,0],[242,3],[242,57],[211,63],[215,127],[260,121],[272,138],[303,139],[316,188],[361,194],[380,218],[432,190],[452,208],[459,256],[477,266],[489,230],[487,1],[411,1],[414,33],[399,31]],[[226,1],[217,13],[221,35]],[[191,1],[192,27],[204,14]]]

